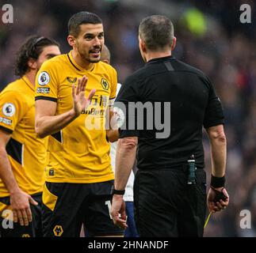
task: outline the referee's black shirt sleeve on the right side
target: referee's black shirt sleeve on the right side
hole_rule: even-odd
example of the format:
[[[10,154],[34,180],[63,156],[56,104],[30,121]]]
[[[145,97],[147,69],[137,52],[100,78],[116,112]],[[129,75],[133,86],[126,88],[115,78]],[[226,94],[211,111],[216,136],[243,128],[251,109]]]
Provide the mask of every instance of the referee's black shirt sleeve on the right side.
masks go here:
[[[204,112],[204,128],[224,124],[224,111],[212,82],[206,78],[209,87],[208,105]]]

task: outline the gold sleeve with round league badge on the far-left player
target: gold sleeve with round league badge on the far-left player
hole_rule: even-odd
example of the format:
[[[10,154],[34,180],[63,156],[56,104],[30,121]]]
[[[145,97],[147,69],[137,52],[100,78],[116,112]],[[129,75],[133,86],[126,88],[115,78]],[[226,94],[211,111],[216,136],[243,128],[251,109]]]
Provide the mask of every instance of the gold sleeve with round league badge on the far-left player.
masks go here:
[[[12,134],[27,110],[28,105],[22,99],[21,94],[13,91],[2,93],[0,96],[0,128]]]

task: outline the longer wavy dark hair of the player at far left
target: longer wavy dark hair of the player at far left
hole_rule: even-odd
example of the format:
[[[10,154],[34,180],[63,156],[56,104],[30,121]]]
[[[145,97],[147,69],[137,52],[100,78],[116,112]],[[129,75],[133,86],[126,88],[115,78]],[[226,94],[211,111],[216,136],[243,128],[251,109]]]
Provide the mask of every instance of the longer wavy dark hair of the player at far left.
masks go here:
[[[57,46],[59,43],[55,40],[43,36],[31,36],[17,51],[17,59],[15,65],[15,74],[17,76],[24,76],[29,70],[29,59],[37,60],[39,55],[44,50],[44,47]]]

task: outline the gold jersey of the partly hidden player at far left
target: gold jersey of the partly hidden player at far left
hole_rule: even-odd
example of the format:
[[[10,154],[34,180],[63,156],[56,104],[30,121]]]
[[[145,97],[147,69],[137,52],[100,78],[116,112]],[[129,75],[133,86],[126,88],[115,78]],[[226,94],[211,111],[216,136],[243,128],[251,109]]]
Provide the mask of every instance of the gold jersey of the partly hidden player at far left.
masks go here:
[[[22,77],[0,93],[0,128],[11,134],[6,152],[22,191],[43,191],[48,138],[36,138],[34,87]],[[9,196],[0,179],[0,197]]]

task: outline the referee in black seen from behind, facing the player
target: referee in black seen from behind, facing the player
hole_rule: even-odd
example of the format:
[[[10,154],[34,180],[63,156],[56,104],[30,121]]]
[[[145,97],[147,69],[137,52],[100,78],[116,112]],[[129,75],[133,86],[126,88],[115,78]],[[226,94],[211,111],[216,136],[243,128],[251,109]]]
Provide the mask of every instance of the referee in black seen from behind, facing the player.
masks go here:
[[[144,18],[139,25],[139,50],[147,63],[124,81],[117,96],[126,110],[117,143],[111,215],[116,225],[127,227],[123,194],[137,153],[134,204],[139,236],[203,236],[206,203],[215,213],[229,202],[224,188],[227,144],[220,99],[201,70],[171,55],[175,44],[174,27],[167,17]],[[153,116],[144,113],[142,119],[138,110],[131,110],[138,102],[150,103],[154,109],[160,103],[161,110],[153,110]],[[157,114],[168,123],[163,130],[167,136],[162,137],[155,125],[153,129],[145,126]],[[132,120],[134,128],[129,124]],[[211,143],[208,196],[202,126]]]

